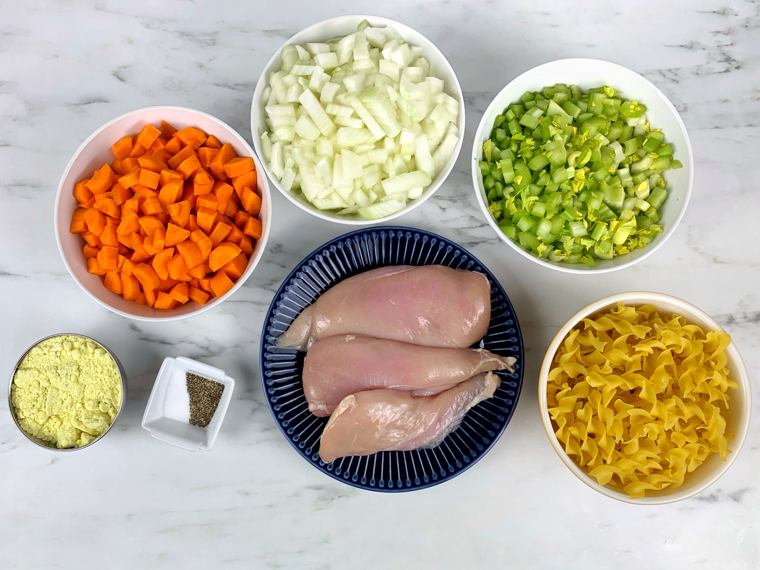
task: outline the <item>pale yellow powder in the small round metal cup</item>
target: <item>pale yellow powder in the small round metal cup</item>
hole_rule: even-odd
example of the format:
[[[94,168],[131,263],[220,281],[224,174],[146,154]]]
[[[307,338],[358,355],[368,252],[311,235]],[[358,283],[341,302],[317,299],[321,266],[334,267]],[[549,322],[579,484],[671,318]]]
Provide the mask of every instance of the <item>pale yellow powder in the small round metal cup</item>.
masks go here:
[[[111,355],[90,339],[43,340],[24,356],[11,385],[21,429],[58,448],[97,439],[122,404],[122,380]]]

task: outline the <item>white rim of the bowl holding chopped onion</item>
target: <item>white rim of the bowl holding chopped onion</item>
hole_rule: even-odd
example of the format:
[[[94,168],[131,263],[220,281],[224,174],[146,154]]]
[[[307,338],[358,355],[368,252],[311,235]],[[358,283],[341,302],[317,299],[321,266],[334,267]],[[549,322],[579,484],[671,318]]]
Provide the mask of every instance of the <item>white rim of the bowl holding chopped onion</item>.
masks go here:
[[[394,220],[395,218],[402,216],[404,214],[409,213],[414,208],[420,206],[425,202],[428,198],[430,198],[435,192],[438,192],[438,189],[443,185],[443,183],[448,179],[448,176],[451,174],[451,170],[454,169],[454,165],[457,163],[457,160],[459,158],[459,154],[461,153],[462,149],[462,143],[464,142],[464,135],[465,135],[465,128],[466,128],[466,122],[465,122],[465,109],[464,109],[464,93],[462,93],[462,87],[459,82],[459,78],[457,77],[456,72],[454,71],[454,68],[451,66],[451,63],[448,61],[448,58],[443,55],[441,50],[438,48],[438,46],[435,46],[432,41],[428,39],[427,36],[425,36],[423,33],[420,33],[415,28],[404,24],[403,22],[399,22],[396,20],[391,20],[391,18],[383,17],[383,16],[375,16],[372,14],[345,14],[343,16],[336,16],[336,17],[330,17],[326,20],[318,21],[315,24],[312,24],[309,27],[305,27],[303,30],[300,30],[298,33],[293,34],[293,36],[290,36],[290,38],[283,43],[282,46],[280,46],[276,52],[274,52],[274,55],[271,56],[269,61],[264,65],[264,68],[261,70],[261,74],[259,75],[258,81],[256,82],[256,87],[253,92],[253,99],[251,101],[251,138],[253,141],[253,147],[256,150],[256,153],[259,154],[261,157],[264,157],[264,153],[261,150],[261,138],[258,135],[258,122],[255,119],[255,109],[256,109],[256,102],[261,99],[261,92],[264,90],[264,87],[267,86],[267,70],[271,67],[271,65],[274,63],[274,60],[280,57],[280,54],[282,53],[282,50],[286,46],[293,45],[296,38],[298,36],[301,36],[303,33],[315,30],[317,27],[323,26],[325,24],[328,24],[328,22],[336,22],[336,21],[344,21],[344,20],[351,20],[354,18],[360,18],[361,20],[366,19],[372,19],[373,21],[379,21],[382,24],[385,24],[389,27],[397,27],[397,26],[403,26],[410,28],[410,30],[414,30],[416,33],[419,33],[420,36],[429,44],[430,48],[437,52],[438,55],[441,56],[442,60],[445,62],[445,64],[448,66],[449,70],[451,71],[451,74],[454,76],[454,87],[456,87],[455,91],[458,94],[459,97],[459,121],[460,124],[458,125],[459,128],[459,141],[457,141],[456,147],[454,147],[454,152],[451,154],[451,157],[448,159],[448,162],[446,163],[446,166],[439,174],[440,181],[436,184],[429,185],[425,192],[423,192],[423,195],[420,196],[420,198],[416,198],[416,200],[413,201],[412,204],[407,204],[406,207],[404,207],[403,210],[394,212],[393,214],[390,214],[388,216],[378,218],[377,220],[350,220],[350,219],[344,219],[340,217],[331,217],[327,214],[322,214],[321,211],[317,210],[315,207],[309,207],[305,204],[302,204],[300,201],[296,200],[296,198],[287,190],[285,190],[282,186],[280,186],[280,182],[277,180],[277,178],[271,173],[268,163],[266,160],[261,160],[261,163],[264,165],[264,172],[267,173],[267,176],[269,177],[272,185],[274,185],[274,188],[277,188],[277,190],[280,192],[281,195],[285,196],[288,201],[290,201],[292,204],[296,204],[297,207],[299,207],[302,211],[308,212],[309,214],[312,214],[312,216],[318,217],[321,220],[327,220],[329,222],[333,223],[341,223],[346,226],[372,226],[372,224],[375,223],[388,223],[391,220]],[[443,175],[443,176],[442,176]],[[432,188],[432,190],[430,189]]]

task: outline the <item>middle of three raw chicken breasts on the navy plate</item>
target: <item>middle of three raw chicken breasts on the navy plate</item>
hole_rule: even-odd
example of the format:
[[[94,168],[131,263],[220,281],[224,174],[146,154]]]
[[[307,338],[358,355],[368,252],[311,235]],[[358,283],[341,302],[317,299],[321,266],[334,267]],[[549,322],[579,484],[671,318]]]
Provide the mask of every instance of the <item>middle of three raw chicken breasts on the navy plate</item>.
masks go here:
[[[315,416],[328,416],[344,397],[393,388],[429,396],[480,372],[510,369],[505,358],[483,349],[420,347],[353,334],[318,340],[303,363],[303,391]]]

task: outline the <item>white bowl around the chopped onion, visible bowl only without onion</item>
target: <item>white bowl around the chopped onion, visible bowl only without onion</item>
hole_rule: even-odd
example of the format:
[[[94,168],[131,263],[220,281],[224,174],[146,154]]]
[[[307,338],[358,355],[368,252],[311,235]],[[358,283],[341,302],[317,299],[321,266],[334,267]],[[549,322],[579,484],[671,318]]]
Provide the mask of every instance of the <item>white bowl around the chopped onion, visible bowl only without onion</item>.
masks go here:
[[[454,163],[457,162],[459,150],[461,150],[462,147],[462,140],[464,139],[464,97],[462,97],[462,89],[459,86],[457,75],[454,74],[454,70],[451,68],[451,65],[449,65],[445,56],[420,32],[401,24],[401,22],[389,20],[387,17],[369,16],[366,14],[333,17],[329,20],[317,22],[316,24],[307,27],[306,30],[296,33],[295,36],[290,38],[290,40],[287,40],[287,42],[284,43],[274,55],[272,55],[272,59],[269,60],[268,64],[264,67],[264,71],[261,72],[261,77],[258,78],[258,83],[253,92],[253,101],[251,104],[251,136],[253,138],[253,146],[256,149],[256,154],[260,157],[264,157],[264,154],[261,152],[261,134],[269,129],[267,127],[266,116],[264,115],[264,104],[266,102],[261,101],[261,93],[269,84],[269,75],[274,71],[280,70],[283,48],[285,46],[303,44],[306,42],[324,42],[325,40],[330,40],[336,36],[347,36],[350,33],[354,33],[356,27],[363,20],[369,21],[369,24],[372,27],[390,26],[394,28],[411,46],[420,46],[423,49],[421,55],[428,59],[430,62],[430,68],[435,73],[435,76],[444,81],[444,91],[459,101],[459,122],[457,126],[459,127],[460,135],[457,147],[454,149],[454,154],[451,155],[451,158],[439,175],[435,177],[427,188],[425,188],[423,195],[416,200],[408,201],[407,207],[405,207],[404,210],[391,214],[390,216],[379,218],[378,220],[365,220],[363,217],[359,216],[359,214],[338,216],[333,211],[318,210],[312,206],[312,204],[310,204],[299,191],[289,192],[283,188],[277,178],[271,173],[269,165],[266,163],[264,164],[264,170],[272,181],[274,188],[277,188],[277,190],[279,190],[285,198],[293,202],[293,204],[296,204],[296,206],[303,211],[309,212],[309,214],[313,214],[322,220],[345,223],[352,226],[368,226],[372,223],[388,222],[388,220],[393,220],[395,217],[399,217],[406,214],[408,211],[413,210],[438,190],[439,186],[442,185],[443,181],[448,176],[448,173],[450,173],[451,169],[454,167]],[[262,162],[265,162],[263,158]]]

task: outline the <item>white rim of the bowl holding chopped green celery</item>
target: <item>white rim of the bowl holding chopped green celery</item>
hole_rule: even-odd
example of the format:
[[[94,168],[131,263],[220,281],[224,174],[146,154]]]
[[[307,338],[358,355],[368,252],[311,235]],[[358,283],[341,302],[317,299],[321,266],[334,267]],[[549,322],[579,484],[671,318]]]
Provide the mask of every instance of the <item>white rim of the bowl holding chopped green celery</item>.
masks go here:
[[[663,232],[660,236],[658,236],[658,238],[655,239],[654,242],[644,247],[642,249],[641,255],[638,255],[638,257],[636,258],[630,258],[629,261],[625,261],[621,264],[613,265],[610,268],[576,269],[569,266],[565,267],[563,264],[553,263],[551,261],[546,261],[543,259],[536,258],[533,255],[530,255],[528,252],[522,249],[518,244],[516,244],[507,236],[505,236],[504,232],[502,232],[502,230],[499,229],[499,226],[496,224],[496,220],[493,219],[493,217],[488,211],[488,204],[486,204],[486,202],[483,200],[483,195],[480,194],[480,187],[478,186],[480,169],[477,166],[477,152],[480,146],[483,144],[483,131],[486,128],[486,125],[485,125],[486,116],[489,114],[489,112],[492,111],[494,107],[496,107],[496,101],[499,100],[510,88],[512,88],[514,84],[520,81],[525,75],[532,73],[533,71],[539,68],[542,68],[546,65],[556,65],[560,62],[565,63],[567,65],[573,65],[578,62],[584,62],[586,64],[590,63],[591,65],[600,65],[600,64],[610,65],[615,68],[619,68],[619,70],[622,71],[623,73],[629,73],[629,74],[634,75],[636,78],[638,78],[639,81],[642,81],[644,84],[648,85],[648,87],[651,87],[651,89],[654,90],[654,93],[656,93],[663,100],[667,108],[670,109],[670,112],[672,112],[673,116],[675,116],[676,123],[678,123],[679,127],[681,128],[683,138],[686,140],[686,156],[688,157],[688,160],[689,160],[689,164],[688,164],[689,179],[686,182],[686,195],[684,195],[684,198],[681,204],[681,209],[679,211],[678,216],[676,217],[676,220],[673,222],[673,224],[671,224],[670,228],[667,231]],[[545,268],[555,269],[556,271],[564,271],[565,273],[574,273],[574,274],[581,274],[581,275],[600,274],[600,273],[608,273],[610,271],[618,271],[619,269],[627,268],[635,263],[638,263],[638,261],[641,261],[642,259],[647,258],[649,255],[651,255],[657,249],[659,249],[660,246],[663,245],[663,243],[666,242],[667,239],[673,234],[673,232],[676,230],[676,227],[679,225],[679,223],[681,223],[682,217],[684,216],[684,214],[686,214],[686,207],[689,205],[689,199],[692,196],[692,185],[694,182],[694,155],[692,152],[692,142],[689,139],[689,132],[686,131],[686,125],[681,119],[681,116],[679,115],[679,112],[676,110],[676,107],[673,106],[673,103],[670,102],[670,99],[668,99],[665,93],[663,93],[660,89],[658,89],[655,84],[653,84],[651,81],[649,81],[647,78],[637,73],[636,71],[633,71],[630,68],[626,68],[624,65],[620,65],[619,63],[609,62],[606,59],[594,59],[594,58],[554,59],[550,62],[544,62],[540,65],[536,65],[535,67],[522,72],[517,77],[509,81],[509,83],[506,84],[505,87],[502,90],[500,90],[499,93],[496,94],[496,97],[494,97],[491,100],[491,103],[489,104],[489,106],[486,107],[486,110],[483,112],[483,115],[480,117],[480,123],[478,124],[477,131],[475,131],[475,138],[473,140],[472,164],[470,166],[472,168],[473,188],[475,190],[475,195],[477,197],[478,204],[480,205],[480,210],[483,211],[483,215],[486,217],[486,220],[488,221],[489,226],[493,228],[493,230],[496,232],[499,238],[502,239],[503,242],[508,243],[508,245],[510,245],[512,249],[514,249],[524,258],[528,258],[530,259],[530,261],[534,261],[535,263]],[[626,254],[626,255],[629,255],[629,254]]]

